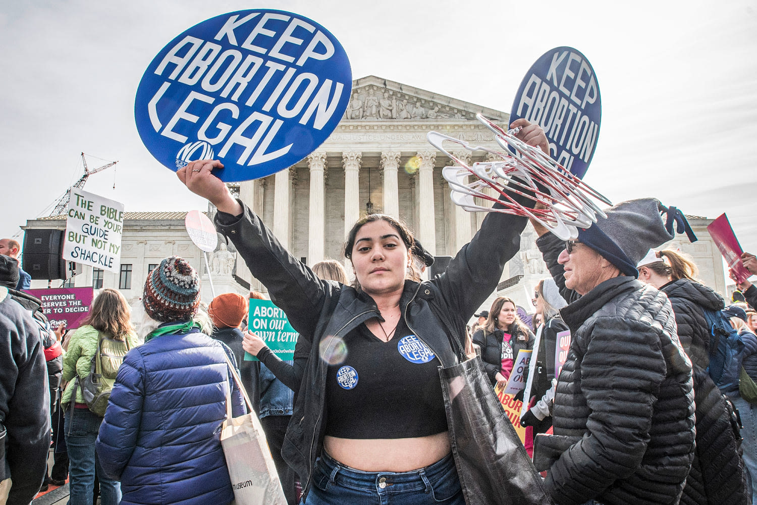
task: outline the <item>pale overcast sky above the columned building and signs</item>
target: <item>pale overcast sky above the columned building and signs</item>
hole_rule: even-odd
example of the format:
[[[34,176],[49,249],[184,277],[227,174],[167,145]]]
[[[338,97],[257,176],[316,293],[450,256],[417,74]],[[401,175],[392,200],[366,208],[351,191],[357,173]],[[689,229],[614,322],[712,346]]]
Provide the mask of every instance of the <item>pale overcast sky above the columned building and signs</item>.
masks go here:
[[[205,209],[142,145],[133,115],[139,79],[195,23],[277,8],[331,31],[356,79],[380,76],[500,111],[510,111],[540,55],[577,48],[597,73],[603,105],[587,182],[616,202],[653,196],[686,214],[726,212],[743,248],[754,252],[755,4],[3,2],[0,237],[49,214],[82,175],[82,151],[90,169],[119,161],[90,177],[85,190],[122,201],[127,211]]]

